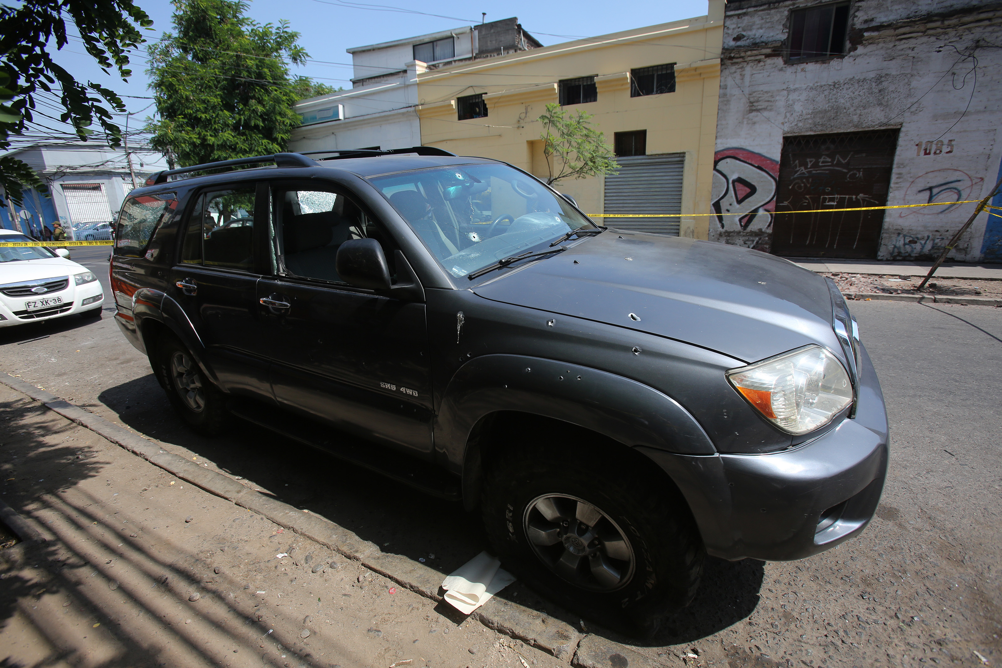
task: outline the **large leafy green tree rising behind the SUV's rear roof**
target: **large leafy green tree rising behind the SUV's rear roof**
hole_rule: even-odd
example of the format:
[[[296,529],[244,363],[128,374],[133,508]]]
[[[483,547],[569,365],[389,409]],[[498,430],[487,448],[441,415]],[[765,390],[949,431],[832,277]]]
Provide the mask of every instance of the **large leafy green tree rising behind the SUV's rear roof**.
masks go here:
[[[261,24],[242,0],[177,0],[174,33],[149,47],[158,120],[150,144],[182,166],[286,150],[293,105],[330,86],[291,77],[309,54],[287,21]]]

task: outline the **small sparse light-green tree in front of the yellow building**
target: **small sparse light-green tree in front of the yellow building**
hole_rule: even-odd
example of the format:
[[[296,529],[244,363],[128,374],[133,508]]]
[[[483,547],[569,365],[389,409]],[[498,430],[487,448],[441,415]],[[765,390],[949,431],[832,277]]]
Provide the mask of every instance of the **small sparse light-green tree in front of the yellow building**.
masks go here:
[[[543,140],[543,155],[549,170],[548,185],[564,178],[616,173],[619,165],[615,154],[605,143],[605,134],[591,126],[591,114],[580,109],[577,115],[567,113],[559,104],[551,102],[538,120],[543,124],[539,136]]]

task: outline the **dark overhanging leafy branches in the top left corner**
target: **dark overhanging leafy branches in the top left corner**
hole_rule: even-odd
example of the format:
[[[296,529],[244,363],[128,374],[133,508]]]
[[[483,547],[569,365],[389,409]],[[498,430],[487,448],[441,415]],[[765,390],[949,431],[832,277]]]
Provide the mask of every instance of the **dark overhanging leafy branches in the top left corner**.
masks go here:
[[[50,54],[68,43],[67,18],[76,26],[83,48],[107,74],[115,70],[126,80],[128,51],[144,39],[140,28],[153,24],[146,13],[131,0],[24,0],[17,6],[0,5],[0,151],[9,150],[11,136],[23,134],[26,128],[45,123],[68,123],[76,136],[86,141],[94,133],[95,122],[109,146],[121,144],[121,130],[111,122],[111,112],[124,111],[125,105],[114,91],[92,81],[77,81],[57,65]],[[36,107],[45,103],[46,111]],[[51,113],[52,106],[61,111]],[[36,116],[49,119],[37,121]],[[59,132],[58,129],[54,130]],[[7,200],[22,203],[25,187],[46,192],[38,175],[24,162],[9,155],[0,157],[0,206]]]

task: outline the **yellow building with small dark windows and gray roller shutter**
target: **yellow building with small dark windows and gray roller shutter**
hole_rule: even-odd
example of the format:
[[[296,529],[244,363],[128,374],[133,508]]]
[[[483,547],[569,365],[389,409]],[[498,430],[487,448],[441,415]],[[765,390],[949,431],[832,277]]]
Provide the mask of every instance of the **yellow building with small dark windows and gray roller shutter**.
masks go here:
[[[518,51],[418,74],[421,143],[504,160],[544,180],[539,116],[558,102],[593,115],[617,175],[566,179],[587,213],[708,213],[723,0],[708,16]],[[705,239],[709,216],[605,218]]]

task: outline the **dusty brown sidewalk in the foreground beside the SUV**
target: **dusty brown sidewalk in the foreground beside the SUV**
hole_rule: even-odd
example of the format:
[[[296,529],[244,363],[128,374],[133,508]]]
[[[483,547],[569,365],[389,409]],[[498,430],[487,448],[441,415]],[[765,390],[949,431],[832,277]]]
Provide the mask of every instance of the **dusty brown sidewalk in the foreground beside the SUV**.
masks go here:
[[[240,490],[245,481],[200,470],[200,458],[185,462],[158,442],[58,405],[95,424],[75,424],[0,385],[0,491],[42,538],[0,551],[2,666],[510,668],[522,658],[530,668],[561,668],[576,656],[587,668],[589,648],[614,646],[579,643],[574,633],[558,658],[489,629],[481,616],[450,617],[427,595],[297,531],[308,521],[347,537],[337,525]],[[155,455],[135,457],[95,425]],[[168,460],[185,464],[181,477],[162,467]],[[224,483],[255,503],[221,498],[213,485]],[[365,547],[377,560],[403,561]],[[434,574],[436,586],[441,577]],[[630,666],[652,665],[618,651]]]

